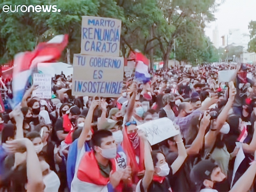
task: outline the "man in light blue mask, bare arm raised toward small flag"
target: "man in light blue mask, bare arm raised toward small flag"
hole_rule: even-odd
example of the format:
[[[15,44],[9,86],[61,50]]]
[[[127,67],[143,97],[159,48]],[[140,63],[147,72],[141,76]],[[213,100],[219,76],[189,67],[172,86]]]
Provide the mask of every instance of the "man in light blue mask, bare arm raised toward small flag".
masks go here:
[[[123,126],[130,121],[136,121],[137,125],[143,123],[142,117],[144,114],[144,110],[142,108],[141,102],[136,100],[136,95],[138,93],[138,85],[137,83],[132,84],[132,96],[128,102],[126,114],[124,115]]]

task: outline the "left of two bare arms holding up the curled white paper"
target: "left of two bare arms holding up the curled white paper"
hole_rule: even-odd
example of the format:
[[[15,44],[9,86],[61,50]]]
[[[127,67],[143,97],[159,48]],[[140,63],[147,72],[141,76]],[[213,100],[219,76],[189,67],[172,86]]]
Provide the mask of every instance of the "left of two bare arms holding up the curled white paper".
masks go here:
[[[138,131],[138,134],[139,134],[140,138],[143,140],[144,146],[145,146],[144,147],[145,174],[144,174],[144,177],[141,182],[142,182],[144,191],[148,191],[148,187],[153,180],[154,164],[153,164],[153,159],[151,156],[151,147],[150,147],[149,142],[145,136],[145,133]]]

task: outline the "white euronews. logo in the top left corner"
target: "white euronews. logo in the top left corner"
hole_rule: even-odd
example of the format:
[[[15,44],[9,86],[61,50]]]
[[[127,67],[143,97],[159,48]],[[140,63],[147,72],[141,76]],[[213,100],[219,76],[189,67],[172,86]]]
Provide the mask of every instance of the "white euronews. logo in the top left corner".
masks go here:
[[[57,9],[57,5],[4,5],[3,12],[60,12],[60,9]]]

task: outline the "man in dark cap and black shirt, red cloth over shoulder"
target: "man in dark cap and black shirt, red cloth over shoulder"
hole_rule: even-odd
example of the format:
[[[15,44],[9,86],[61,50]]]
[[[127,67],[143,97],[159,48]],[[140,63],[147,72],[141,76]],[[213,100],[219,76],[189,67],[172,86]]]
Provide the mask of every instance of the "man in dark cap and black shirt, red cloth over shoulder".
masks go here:
[[[76,106],[72,106],[65,115],[60,117],[55,124],[55,131],[59,141],[65,140],[68,133],[76,126],[76,118],[80,115],[80,109]],[[72,138],[68,138],[72,142]],[[65,140],[66,141],[66,140]]]

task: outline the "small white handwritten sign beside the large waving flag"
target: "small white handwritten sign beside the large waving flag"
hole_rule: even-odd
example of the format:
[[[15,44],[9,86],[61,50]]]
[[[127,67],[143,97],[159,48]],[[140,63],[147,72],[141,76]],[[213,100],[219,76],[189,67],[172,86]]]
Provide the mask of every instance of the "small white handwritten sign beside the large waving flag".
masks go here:
[[[52,76],[50,74],[34,73],[33,84],[38,86],[37,89],[32,92],[32,97],[42,99],[52,98]]]

